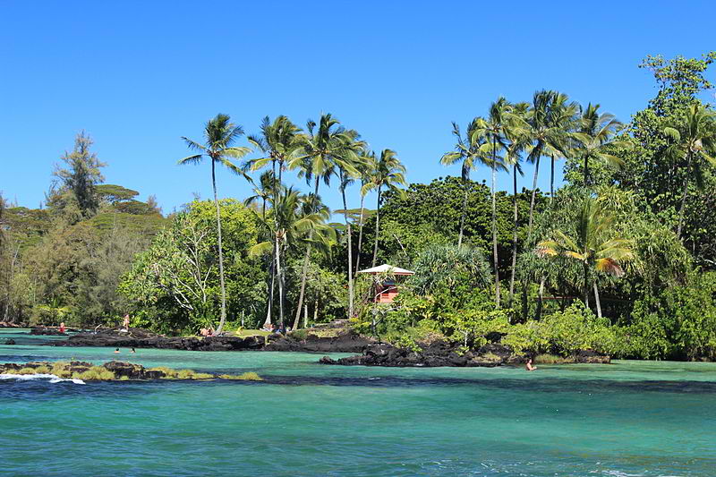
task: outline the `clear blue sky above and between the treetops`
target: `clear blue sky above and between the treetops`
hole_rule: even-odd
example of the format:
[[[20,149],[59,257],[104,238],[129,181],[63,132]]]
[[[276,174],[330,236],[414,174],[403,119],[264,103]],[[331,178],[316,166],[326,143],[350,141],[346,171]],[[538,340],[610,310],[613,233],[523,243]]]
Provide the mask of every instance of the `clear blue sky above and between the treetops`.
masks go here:
[[[373,149],[395,149],[411,182],[430,182],[459,174],[438,162],[450,122],[484,115],[499,95],[558,89],[628,121],[655,92],[641,59],[701,55],[716,13],[708,1],[2,5],[0,191],[38,207],[53,164],[86,130],[107,183],[156,194],[165,212],[193,192],[210,197],[209,166],[175,162],[187,155],[179,137],[200,139],[219,112],[247,132],[264,115],[303,125],[330,112]],[[218,187],[249,192],[227,173]],[[333,189],[323,195],[337,208]]]

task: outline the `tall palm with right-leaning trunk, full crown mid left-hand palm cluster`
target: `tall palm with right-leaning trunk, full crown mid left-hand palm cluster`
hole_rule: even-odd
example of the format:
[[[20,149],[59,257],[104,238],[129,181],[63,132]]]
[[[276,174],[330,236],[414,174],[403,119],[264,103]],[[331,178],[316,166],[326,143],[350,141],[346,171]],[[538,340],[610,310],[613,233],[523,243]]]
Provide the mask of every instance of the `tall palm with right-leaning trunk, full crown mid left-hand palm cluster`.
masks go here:
[[[301,169],[300,174],[304,175],[306,181],[314,181],[313,197],[319,197],[320,181],[328,185],[331,175],[337,172],[338,167],[344,167],[350,174],[356,174],[352,161],[355,160],[355,144],[358,133],[353,130],[346,130],[338,120],[330,114],[321,115],[318,129],[316,123],[309,120],[306,124],[306,133],[299,136],[298,141],[302,147],[302,154],[295,156],[288,162],[290,169]],[[315,130],[315,132],[314,132]],[[319,202],[316,201],[318,206]],[[303,271],[301,274],[301,291],[298,295],[298,306],[296,308],[295,322],[301,319],[301,307],[303,296],[306,291],[306,277],[308,264],[311,257],[311,244],[306,247],[303,257]]]

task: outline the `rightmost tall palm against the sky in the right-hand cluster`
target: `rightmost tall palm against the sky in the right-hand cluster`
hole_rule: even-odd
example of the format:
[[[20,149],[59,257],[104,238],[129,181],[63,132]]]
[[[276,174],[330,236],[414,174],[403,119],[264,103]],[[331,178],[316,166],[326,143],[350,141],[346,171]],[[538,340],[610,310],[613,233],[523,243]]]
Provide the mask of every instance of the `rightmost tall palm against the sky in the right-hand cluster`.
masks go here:
[[[579,132],[574,134],[579,143],[578,153],[584,160],[584,187],[589,187],[589,162],[597,160],[608,166],[620,167],[624,161],[617,156],[609,154],[609,148],[618,147],[630,149],[632,144],[628,141],[615,139],[621,123],[614,115],[599,112],[600,105],[589,103],[584,109],[579,122]]]

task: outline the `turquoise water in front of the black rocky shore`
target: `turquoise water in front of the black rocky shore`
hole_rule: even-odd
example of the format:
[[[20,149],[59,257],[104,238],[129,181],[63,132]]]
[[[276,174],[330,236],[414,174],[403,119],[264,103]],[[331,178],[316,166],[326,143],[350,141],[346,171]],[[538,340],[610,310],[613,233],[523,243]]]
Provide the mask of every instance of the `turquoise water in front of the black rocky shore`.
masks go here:
[[[2,345],[7,337],[23,345]],[[56,339],[56,338],[53,338]],[[0,330],[0,362],[86,360]],[[124,350],[123,350],[124,351]],[[338,354],[337,356],[340,356]],[[266,380],[0,381],[3,475],[713,475],[716,364],[497,369],[316,364],[307,353],[120,359]]]

